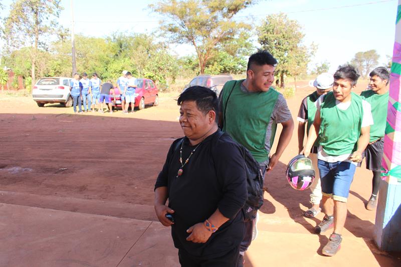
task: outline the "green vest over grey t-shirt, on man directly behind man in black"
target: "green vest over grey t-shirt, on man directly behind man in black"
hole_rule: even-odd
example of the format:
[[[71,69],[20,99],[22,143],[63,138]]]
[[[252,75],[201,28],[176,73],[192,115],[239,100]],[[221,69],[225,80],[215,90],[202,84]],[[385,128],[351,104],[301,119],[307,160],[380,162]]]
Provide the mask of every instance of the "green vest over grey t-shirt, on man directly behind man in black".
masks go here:
[[[224,85],[223,131],[244,145],[256,161],[263,162],[269,158],[270,151],[265,147],[266,129],[279,93],[272,87],[267,92],[245,93],[241,90],[243,81],[229,81]],[[273,123],[270,147],[274,141],[276,128],[277,125]]]

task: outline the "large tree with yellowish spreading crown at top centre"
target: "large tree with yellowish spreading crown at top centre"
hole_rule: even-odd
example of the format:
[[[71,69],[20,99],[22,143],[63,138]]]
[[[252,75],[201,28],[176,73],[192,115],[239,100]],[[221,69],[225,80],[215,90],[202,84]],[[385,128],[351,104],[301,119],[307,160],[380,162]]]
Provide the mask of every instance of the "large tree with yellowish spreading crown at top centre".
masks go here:
[[[250,29],[233,17],[255,3],[252,0],[174,0],[161,1],[149,7],[167,17],[160,30],[171,42],[190,44],[197,55],[199,72],[204,74],[216,47]]]

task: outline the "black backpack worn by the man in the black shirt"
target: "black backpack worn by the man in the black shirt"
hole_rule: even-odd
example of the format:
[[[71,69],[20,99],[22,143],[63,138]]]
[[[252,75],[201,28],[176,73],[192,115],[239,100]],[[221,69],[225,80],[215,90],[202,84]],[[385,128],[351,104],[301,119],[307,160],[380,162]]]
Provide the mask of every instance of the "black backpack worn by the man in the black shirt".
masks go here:
[[[223,131],[218,131],[212,140],[212,149],[216,147],[217,141],[224,134]],[[175,144],[175,149],[178,150],[183,138]],[[245,161],[245,171],[247,174],[247,189],[248,198],[242,207],[242,213],[245,221],[250,221],[256,218],[258,209],[263,205],[263,175],[259,163],[254,159],[248,149],[237,143],[241,149]],[[212,151],[212,155],[213,155]]]

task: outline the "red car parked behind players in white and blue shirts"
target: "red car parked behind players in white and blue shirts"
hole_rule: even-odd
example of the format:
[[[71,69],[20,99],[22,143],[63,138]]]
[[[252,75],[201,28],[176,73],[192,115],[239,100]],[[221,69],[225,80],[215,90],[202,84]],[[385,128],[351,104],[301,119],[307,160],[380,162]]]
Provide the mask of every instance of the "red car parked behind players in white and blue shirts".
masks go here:
[[[150,79],[137,79],[137,88],[135,89],[135,106],[138,109],[144,109],[145,105],[157,106],[159,104],[159,90]],[[113,108],[121,108],[121,93],[118,88],[114,88],[116,99],[110,93]],[[131,105],[131,104],[130,104]]]

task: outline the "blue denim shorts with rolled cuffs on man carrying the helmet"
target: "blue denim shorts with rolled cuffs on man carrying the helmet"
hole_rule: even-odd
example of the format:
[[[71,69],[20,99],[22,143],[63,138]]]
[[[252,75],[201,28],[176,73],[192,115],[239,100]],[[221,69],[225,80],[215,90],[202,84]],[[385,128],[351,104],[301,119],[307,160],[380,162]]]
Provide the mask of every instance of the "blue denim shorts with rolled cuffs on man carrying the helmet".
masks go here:
[[[347,202],[356,166],[348,161],[327,162],[318,159],[317,167],[323,195],[337,201]]]

